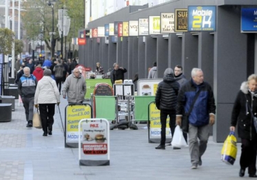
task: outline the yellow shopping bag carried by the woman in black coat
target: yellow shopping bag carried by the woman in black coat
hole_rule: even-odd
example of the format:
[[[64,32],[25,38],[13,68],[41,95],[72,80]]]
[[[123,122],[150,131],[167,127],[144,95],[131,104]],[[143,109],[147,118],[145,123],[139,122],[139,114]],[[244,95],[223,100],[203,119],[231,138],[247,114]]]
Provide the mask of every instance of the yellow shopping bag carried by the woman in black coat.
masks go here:
[[[221,150],[221,160],[225,162],[225,164],[233,165],[236,161],[236,137],[234,131],[230,132],[230,135],[227,136],[225,142],[223,144],[223,148]]]

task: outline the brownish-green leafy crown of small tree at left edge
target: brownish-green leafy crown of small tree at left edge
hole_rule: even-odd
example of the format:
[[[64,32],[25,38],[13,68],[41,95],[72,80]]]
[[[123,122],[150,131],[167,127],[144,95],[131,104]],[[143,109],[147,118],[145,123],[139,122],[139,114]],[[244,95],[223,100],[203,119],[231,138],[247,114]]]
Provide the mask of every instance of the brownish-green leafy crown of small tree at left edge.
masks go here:
[[[14,32],[8,28],[0,28],[0,54],[12,54]]]

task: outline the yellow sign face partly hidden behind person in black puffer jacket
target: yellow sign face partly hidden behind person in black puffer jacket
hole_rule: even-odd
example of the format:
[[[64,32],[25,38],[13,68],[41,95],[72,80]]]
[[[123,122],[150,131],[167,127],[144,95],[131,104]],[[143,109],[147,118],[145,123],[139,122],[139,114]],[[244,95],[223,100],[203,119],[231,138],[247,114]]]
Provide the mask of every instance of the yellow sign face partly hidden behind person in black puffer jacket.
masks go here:
[[[161,137],[161,119],[160,111],[155,106],[155,103],[152,102],[149,104],[149,120],[150,120],[150,137]],[[171,137],[170,132],[170,117],[166,121],[166,137]]]

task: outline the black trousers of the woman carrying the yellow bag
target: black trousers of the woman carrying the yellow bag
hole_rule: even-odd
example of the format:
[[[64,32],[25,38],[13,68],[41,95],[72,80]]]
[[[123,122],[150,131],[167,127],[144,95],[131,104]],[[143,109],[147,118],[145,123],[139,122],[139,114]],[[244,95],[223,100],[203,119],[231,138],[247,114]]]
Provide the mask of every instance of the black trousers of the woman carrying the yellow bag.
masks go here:
[[[256,174],[256,150],[257,150],[257,137],[250,141],[249,139],[241,139],[241,157],[240,166],[245,169],[248,168],[249,175]]]

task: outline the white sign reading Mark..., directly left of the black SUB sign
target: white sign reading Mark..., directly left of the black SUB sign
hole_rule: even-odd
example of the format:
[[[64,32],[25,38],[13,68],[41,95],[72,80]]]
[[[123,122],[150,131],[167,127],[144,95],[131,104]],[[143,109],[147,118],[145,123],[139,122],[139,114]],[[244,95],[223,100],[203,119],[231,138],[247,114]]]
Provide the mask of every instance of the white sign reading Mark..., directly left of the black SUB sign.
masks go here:
[[[175,32],[175,14],[173,12],[161,12],[161,34]]]

